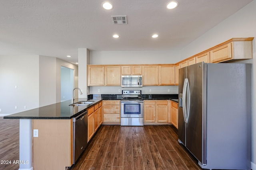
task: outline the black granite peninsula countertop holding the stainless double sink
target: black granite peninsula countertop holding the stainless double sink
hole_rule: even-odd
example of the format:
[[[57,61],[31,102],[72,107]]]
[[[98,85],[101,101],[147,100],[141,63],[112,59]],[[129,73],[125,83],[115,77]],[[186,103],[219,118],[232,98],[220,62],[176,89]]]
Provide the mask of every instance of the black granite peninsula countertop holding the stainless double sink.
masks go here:
[[[20,113],[4,116],[4,119],[71,119],[86,111],[89,107],[97,104],[101,100],[87,100],[86,98],[76,98],[74,103],[82,101],[94,101],[86,106],[69,106],[71,100],[38,107]]]

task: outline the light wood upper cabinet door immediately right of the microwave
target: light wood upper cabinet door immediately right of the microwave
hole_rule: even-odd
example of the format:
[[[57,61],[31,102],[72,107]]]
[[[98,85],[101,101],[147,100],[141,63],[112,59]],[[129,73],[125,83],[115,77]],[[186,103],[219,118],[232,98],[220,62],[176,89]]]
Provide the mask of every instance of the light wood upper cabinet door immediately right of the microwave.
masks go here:
[[[158,66],[143,66],[143,85],[158,85]]]

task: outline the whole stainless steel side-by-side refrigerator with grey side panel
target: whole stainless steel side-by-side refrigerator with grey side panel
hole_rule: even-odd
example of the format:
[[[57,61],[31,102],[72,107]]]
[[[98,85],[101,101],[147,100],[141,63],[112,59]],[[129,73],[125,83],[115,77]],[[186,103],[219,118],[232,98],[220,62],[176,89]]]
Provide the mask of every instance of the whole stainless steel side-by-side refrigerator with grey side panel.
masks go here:
[[[204,169],[250,170],[251,64],[179,70],[178,137]]]

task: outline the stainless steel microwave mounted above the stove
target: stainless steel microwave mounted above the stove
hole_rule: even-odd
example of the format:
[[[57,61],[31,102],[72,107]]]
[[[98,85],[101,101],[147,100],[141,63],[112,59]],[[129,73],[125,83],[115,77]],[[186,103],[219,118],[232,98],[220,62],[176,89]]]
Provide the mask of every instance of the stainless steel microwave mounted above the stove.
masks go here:
[[[122,76],[121,87],[142,87],[142,75]]]

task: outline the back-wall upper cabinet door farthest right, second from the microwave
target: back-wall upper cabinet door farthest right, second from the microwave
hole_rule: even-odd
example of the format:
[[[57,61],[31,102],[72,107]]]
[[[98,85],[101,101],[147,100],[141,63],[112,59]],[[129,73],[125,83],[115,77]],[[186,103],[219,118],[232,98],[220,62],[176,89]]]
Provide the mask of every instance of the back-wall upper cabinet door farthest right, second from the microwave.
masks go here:
[[[159,66],[159,85],[175,84],[175,66]]]

